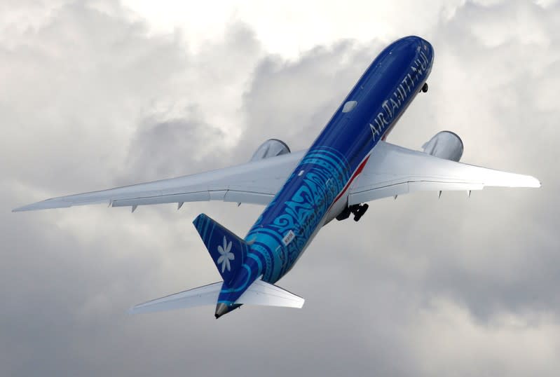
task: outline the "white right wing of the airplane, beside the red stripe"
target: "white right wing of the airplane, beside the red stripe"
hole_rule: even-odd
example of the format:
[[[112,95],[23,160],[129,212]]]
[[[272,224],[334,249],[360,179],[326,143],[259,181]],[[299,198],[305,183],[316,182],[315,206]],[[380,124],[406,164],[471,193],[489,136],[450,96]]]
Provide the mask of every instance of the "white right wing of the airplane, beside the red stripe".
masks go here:
[[[456,163],[378,142],[350,187],[348,205],[414,191],[470,191],[485,186],[540,187],[540,182],[528,175]]]

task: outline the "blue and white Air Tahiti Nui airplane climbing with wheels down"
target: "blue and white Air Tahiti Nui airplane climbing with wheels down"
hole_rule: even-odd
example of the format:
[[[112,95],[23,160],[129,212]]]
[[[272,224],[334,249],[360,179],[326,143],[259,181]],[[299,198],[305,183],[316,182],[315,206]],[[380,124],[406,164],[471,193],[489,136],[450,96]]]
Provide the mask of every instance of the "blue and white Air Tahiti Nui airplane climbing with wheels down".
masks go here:
[[[205,214],[193,224],[222,280],[132,307],[130,313],[216,305],[215,317],[241,305],[301,308],[303,298],[275,285],[333,219],[359,221],[367,202],[414,191],[486,186],[540,187],[534,177],[460,163],[463,142],[438,132],[414,151],[385,142],[419,92],[434,60],[418,36],[391,43],[371,62],[309,149],[292,153],[269,139],[248,163],[210,172],[51,198],[13,210],[108,203],[109,207],[223,200],[266,206],[245,238]]]

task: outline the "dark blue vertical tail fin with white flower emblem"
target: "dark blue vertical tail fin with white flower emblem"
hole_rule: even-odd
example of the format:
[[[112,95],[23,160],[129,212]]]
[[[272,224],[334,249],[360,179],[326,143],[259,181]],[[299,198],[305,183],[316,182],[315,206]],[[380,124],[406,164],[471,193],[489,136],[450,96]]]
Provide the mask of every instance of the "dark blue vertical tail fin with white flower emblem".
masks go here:
[[[224,282],[231,282],[247,257],[247,242],[205,214],[199,214],[193,224]]]

